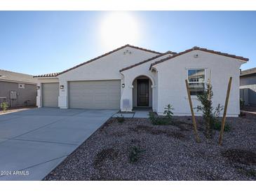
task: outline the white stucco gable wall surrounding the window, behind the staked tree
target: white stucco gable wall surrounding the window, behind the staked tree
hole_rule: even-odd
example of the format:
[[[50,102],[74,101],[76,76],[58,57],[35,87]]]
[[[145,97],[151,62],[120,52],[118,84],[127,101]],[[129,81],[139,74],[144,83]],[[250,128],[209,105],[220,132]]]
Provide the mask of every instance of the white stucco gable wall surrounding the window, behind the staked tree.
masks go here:
[[[198,54],[195,58],[194,55]],[[206,80],[211,74],[213,85],[213,106],[224,105],[229,77],[232,76],[231,92],[227,116],[238,116],[239,108],[239,68],[243,62],[231,57],[194,50],[171,60],[154,66],[158,71],[158,107],[157,112],[163,114],[167,104],[173,104],[174,113],[178,116],[190,116],[189,101],[185,79],[188,69],[206,69]],[[192,96],[194,107],[200,104],[196,96]],[[196,115],[200,115],[195,110]]]

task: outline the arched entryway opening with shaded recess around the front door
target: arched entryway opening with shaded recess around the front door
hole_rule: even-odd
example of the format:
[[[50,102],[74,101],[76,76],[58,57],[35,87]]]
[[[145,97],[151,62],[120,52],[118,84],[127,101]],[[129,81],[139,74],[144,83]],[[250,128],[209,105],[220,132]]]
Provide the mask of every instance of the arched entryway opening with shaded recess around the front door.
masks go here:
[[[152,107],[152,81],[147,76],[137,76],[133,80],[133,109]]]

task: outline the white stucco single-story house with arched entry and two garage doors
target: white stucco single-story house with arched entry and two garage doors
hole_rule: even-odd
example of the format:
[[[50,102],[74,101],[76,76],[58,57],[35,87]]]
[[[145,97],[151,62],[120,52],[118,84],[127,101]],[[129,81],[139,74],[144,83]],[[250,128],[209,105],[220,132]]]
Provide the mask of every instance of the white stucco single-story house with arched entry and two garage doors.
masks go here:
[[[61,109],[132,111],[135,107],[151,107],[160,115],[167,104],[172,104],[175,115],[189,116],[185,79],[189,80],[196,107],[196,94],[211,78],[213,104],[217,106],[224,105],[232,76],[227,115],[238,116],[239,68],[247,61],[198,47],[181,53],[159,53],[126,45],[60,73],[35,76],[39,81],[36,102],[38,107]]]

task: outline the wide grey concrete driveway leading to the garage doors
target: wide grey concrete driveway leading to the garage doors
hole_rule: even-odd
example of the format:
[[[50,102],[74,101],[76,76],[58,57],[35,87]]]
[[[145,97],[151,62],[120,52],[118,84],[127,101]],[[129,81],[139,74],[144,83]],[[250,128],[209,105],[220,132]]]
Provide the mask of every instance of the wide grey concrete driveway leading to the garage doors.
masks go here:
[[[41,180],[117,110],[41,108],[0,116],[0,180]]]

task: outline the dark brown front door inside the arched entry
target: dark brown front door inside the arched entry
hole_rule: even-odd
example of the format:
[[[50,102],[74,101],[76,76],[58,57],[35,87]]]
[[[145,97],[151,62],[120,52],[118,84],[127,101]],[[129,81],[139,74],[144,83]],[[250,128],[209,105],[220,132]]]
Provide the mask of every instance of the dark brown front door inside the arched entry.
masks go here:
[[[149,79],[137,79],[137,107],[149,107]]]

